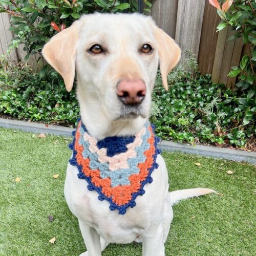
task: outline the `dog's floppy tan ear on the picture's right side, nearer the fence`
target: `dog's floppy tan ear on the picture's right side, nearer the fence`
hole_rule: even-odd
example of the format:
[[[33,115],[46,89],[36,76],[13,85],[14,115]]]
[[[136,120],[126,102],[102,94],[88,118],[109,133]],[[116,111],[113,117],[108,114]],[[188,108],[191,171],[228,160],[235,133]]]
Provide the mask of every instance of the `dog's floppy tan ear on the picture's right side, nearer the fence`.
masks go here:
[[[155,38],[159,54],[163,87],[165,90],[168,90],[167,75],[179,62],[181,50],[172,37],[157,27],[155,28]]]

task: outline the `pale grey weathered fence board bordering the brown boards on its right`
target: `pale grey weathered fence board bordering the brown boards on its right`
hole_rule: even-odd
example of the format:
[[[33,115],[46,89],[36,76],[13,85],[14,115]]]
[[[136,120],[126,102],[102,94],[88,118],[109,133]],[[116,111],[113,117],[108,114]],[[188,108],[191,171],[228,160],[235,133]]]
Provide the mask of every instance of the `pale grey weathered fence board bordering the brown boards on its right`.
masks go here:
[[[175,40],[183,51],[190,50],[198,57],[205,0],[179,0]]]

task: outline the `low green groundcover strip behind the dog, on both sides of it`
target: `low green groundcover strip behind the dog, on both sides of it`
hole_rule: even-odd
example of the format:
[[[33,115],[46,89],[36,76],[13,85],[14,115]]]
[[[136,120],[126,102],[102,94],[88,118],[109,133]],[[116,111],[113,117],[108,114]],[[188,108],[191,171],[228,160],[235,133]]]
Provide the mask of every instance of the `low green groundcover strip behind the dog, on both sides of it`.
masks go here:
[[[213,83],[210,75],[189,71],[196,68],[190,55],[186,70],[179,66],[169,74],[167,92],[158,73],[150,118],[158,136],[188,143],[255,146],[256,107],[249,89],[227,90],[224,84]],[[74,126],[79,117],[74,92],[66,92],[54,71],[40,78],[24,65],[0,70],[0,113],[18,119]]]

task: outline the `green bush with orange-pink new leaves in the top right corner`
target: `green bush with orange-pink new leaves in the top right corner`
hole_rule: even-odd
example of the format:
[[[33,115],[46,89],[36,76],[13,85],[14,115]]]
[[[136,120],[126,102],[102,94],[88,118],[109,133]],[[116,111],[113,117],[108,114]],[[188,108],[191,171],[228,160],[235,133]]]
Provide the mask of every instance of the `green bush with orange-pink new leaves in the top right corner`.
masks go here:
[[[209,3],[217,8],[217,12],[222,19],[217,27],[217,31],[231,26],[234,34],[228,40],[232,41],[242,37],[243,44],[248,47],[248,53],[242,57],[239,67],[231,67],[232,70],[228,76],[236,77],[239,75],[238,86],[244,89],[253,86],[254,83],[250,94],[255,93],[256,2],[251,0],[209,0]]]

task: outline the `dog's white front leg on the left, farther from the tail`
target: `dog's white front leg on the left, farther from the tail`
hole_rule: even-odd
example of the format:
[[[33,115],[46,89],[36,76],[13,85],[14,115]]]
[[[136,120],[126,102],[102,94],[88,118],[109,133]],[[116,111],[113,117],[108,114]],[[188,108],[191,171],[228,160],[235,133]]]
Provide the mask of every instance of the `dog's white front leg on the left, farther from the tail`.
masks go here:
[[[78,220],[84,243],[89,256],[101,256],[100,236],[87,222]]]

